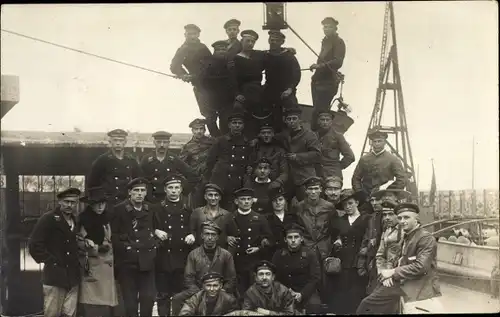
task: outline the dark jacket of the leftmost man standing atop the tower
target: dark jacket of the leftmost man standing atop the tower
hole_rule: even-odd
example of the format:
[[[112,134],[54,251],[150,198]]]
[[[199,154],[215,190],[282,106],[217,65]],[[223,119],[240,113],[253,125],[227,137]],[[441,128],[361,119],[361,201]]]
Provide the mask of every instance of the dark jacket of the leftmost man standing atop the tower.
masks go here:
[[[177,76],[186,75],[188,72],[190,75],[199,75],[204,60],[210,56],[212,56],[212,53],[200,41],[197,43],[184,42],[175,52],[170,63],[170,71]],[[199,84],[198,79],[194,78],[192,84],[197,86]]]

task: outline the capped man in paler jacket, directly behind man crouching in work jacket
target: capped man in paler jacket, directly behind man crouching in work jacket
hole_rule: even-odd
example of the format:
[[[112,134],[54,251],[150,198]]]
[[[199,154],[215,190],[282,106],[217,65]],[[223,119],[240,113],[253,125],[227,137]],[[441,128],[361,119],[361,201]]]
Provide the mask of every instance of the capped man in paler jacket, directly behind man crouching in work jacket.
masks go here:
[[[204,186],[203,197],[205,205],[193,210],[189,219],[189,227],[191,233],[195,236],[195,244],[201,245],[202,224],[206,221],[211,221],[221,229],[217,245],[227,248],[227,236],[225,227],[228,220],[229,211],[220,207],[222,199],[222,189],[216,184],[208,183]]]

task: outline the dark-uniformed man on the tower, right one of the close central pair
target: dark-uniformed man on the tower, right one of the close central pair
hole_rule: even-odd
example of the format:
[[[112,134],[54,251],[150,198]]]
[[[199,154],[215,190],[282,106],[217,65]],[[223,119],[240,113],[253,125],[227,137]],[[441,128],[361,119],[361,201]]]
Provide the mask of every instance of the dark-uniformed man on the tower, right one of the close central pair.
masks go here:
[[[273,126],[275,132],[279,133],[284,128],[283,107],[297,104],[295,94],[301,72],[295,52],[281,47],[285,43],[285,35],[277,30],[268,33],[263,102],[273,106]]]

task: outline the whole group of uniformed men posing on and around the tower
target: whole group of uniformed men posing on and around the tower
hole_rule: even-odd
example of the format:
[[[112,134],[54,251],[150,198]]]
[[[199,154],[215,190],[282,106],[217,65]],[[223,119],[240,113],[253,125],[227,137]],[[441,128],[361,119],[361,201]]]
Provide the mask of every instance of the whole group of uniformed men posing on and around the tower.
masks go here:
[[[359,160],[352,189],[342,190],[342,170],[355,158],[344,131],[333,126],[330,101],[345,45],[333,18],[322,23],[326,37],[311,66],[313,129],[301,121],[295,98],[300,67],[294,50],[281,48],[283,34],[270,31],[270,50],[255,51],[257,33],[243,31],[238,41],[240,22],[233,19],[224,25],[229,40],[214,43],[211,55],[199,42],[200,29],[185,27],[172,72],[193,84],[206,119],[189,124],[193,137],[179,156],[169,154],[170,133],[154,133],[155,150],[140,163],[125,153],[127,132],[108,133],[110,151],[87,177],[83,200],[92,208],[82,221],[84,234],[73,216],[81,193],[73,188],[58,195],[59,206],[32,234],[30,252],[45,263],[47,316],[74,316],[79,283],[86,281],[87,290],[98,285],[103,263],[114,267],[109,274],[127,316],[139,307],[141,316],[151,315],[155,300],[161,316],[240,309],[396,313],[401,297],[411,302],[439,295],[435,240],[420,228],[418,206],[404,202],[406,174],[385,150],[387,134],[369,135],[372,150]],[[102,233],[102,226],[109,230]],[[112,254],[113,262],[88,265],[87,253],[82,273],[82,243],[96,254]],[[332,300],[343,298],[339,290],[360,287],[356,298]],[[112,302],[83,303],[116,306]]]

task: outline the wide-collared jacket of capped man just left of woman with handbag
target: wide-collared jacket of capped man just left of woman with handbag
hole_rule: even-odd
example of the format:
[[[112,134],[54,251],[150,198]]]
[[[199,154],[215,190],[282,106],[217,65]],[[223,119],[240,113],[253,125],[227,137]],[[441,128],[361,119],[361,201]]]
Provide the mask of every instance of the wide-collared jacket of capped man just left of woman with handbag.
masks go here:
[[[332,249],[331,225],[337,218],[335,205],[320,198],[317,205],[312,205],[308,199],[299,202],[295,207],[298,223],[304,230],[304,245],[315,251],[319,250],[322,259],[325,259]]]

